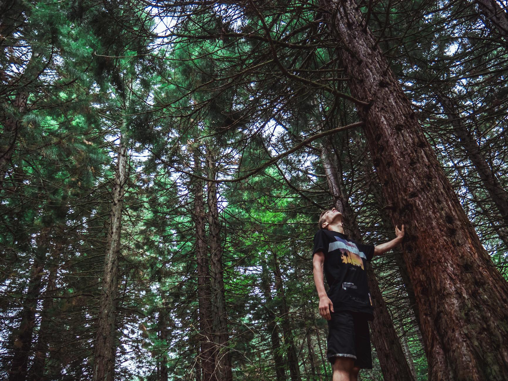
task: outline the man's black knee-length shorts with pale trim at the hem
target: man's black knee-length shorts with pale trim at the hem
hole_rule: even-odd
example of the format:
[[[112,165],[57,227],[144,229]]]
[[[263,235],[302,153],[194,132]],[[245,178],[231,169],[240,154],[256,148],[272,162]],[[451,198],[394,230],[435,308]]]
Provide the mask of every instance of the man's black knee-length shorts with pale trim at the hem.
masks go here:
[[[333,366],[335,358],[349,357],[355,366],[372,369],[368,316],[353,311],[330,312],[326,357]]]

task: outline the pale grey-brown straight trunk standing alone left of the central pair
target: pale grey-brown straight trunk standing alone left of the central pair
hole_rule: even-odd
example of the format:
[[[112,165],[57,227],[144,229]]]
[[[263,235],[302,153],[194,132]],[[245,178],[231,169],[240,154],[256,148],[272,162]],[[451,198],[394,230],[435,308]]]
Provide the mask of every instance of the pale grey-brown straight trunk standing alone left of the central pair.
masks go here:
[[[99,323],[93,362],[93,381],[113,381],[116,356],[115,313],[118,289],[118,257],[122,222],[124,185],[127,179],[127,148],[118,147],[114,178],[108,244],[104,263],[104,278],[99,310]]]

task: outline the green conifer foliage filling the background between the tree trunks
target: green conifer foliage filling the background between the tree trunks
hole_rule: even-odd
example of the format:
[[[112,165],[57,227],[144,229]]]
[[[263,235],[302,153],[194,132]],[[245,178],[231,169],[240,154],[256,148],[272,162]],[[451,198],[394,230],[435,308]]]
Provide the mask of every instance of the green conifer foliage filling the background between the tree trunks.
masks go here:
[[[361,130],[322,137],[264,165],[316,133],[358,120],[340,50],[317,2],[15,3],[0,24],[6,36],[0,154],[12,146],[0,188],[0,374],[7,376],[23,306],[32,298],[28,375],[41,356],[48,379],[91,379],[122,142],[129,164],[116,378],[162,379],[166,368],[171,380],[194,379],[199,372],[196,189],[203,187],[208,217],[212,175],[219,180],[234,379],[276,379],[277,357],[289,378],[293,347],[302,379],[330,378],[327,323],[317,313],[310,254],[320,210],[333,201],[322,144],[333,148],[365,241],[380,243],[393,233],[380,219],[384,199]],[[471,223],[508,279],[507,227],[436,100],[439,91],[453,96],[460,119],[508,188],[506,45],[492,38],[472,5],[459,3],[359,5]],[[16,105],[22,94],[24,108]],[[12,120],[15,133],[7,127]],[[209,235],[208,222],[205,230]],[[41,247],[44,234],[48,244]],[[41,287],[34,292],[36,264]],[[374,269],[407,359],[425,380],[422,333],[399,268],[387,256]],[[374,356],[374,369],[361,379],[382,377]]]

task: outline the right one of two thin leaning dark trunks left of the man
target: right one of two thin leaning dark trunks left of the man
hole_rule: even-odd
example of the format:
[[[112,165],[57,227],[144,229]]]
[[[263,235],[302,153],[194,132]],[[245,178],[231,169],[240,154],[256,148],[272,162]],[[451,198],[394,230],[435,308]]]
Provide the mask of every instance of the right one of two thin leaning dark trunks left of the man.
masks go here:
[[[282,320],[282,332],[284,333],[284,344],[288,348],[287,356],[289,362],[289,370],[292,381],[301,381],[300,366],[298,364],[298,355],[296,353],[296,345],[293,333],[293,324],[291,322],[288,303],[284,293],[284,285],[282,283],[282,274],[280,272],[277,254],[273,254],[275,289],[280,300],[280,317]]]

